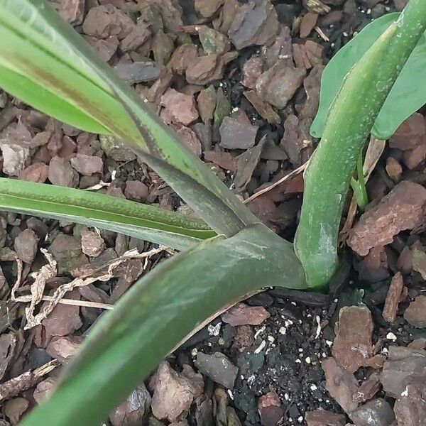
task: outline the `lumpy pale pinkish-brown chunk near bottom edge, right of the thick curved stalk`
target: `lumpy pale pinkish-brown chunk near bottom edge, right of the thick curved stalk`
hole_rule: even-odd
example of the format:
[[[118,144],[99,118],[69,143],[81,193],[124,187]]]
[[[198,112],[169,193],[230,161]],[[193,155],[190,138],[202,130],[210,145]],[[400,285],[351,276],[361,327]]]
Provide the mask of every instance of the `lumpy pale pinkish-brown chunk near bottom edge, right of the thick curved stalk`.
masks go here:
[[[151,378],[149,388],[153,392],[153,415],[174,422],[182,413],[187,413],[192,401],[202,394],[204,382],[190,366],[185,365],[182,373],[177,373],[165,361]]]

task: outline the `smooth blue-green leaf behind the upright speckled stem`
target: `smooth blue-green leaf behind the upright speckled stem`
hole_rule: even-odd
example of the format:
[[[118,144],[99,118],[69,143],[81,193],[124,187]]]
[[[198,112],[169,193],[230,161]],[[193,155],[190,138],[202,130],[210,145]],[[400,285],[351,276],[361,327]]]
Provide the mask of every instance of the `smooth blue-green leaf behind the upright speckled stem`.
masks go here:
[[[342,85],[344,77],[400,13],[388,13],[375,19],[344,45],[325,67],[321,78],[320,106],[310,133],[320,138],[324,131],[329,107]],[[391,50],[388,55],[395,55]],[[385,59],[386,60],[386,59]],[[381,64],[377,64],[381,67]],[[398,79],[386,98],[371,133],[383,141],[390,138],[398,126],[426,102],[426,34],[420,37]],[[380,87],[378,88],[380,89]]]

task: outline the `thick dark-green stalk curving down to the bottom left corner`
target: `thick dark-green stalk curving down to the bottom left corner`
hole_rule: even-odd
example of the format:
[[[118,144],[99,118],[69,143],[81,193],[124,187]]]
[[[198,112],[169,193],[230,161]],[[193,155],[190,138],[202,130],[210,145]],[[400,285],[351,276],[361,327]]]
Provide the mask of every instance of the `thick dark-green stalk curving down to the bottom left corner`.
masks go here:
[[[64,381],[21,426],[99,425],[197,324],[263,285],[306,287],[292,244],[264,225],[160,263],[96,322]]]

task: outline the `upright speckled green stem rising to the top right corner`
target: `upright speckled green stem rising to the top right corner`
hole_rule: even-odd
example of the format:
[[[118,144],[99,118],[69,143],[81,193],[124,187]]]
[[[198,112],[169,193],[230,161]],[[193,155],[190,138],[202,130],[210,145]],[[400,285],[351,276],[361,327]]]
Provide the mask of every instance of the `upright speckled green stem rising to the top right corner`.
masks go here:
[[[337,268],[337,235],[356,160],[410,53],[426,29],[426,1],[410,0],[346,76],[322,139],[305,170],[295,251],[310,287],[327,284]]]

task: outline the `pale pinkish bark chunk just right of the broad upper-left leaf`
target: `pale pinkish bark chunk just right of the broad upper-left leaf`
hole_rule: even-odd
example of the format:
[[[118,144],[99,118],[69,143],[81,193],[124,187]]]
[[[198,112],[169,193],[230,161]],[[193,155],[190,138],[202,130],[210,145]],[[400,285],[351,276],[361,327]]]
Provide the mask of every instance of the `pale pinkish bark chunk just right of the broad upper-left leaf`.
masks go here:
[[[198,118],[195,99],[192,95],[168,89],[161,97],[160,105],[165,108],[171,121],[175,124],[187,126]]]

